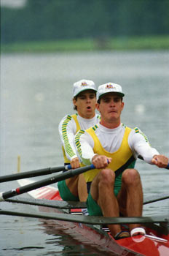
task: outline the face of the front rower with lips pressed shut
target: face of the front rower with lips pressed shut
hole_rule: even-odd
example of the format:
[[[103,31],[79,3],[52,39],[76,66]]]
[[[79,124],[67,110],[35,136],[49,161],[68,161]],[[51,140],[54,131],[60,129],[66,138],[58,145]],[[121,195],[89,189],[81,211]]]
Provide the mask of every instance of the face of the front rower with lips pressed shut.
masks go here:
[[[97,104],[97,109],[101,113],[101,123],[119,124],[123,108],[124,102],[118,94],[110,92],[103,95],[100,104]]]

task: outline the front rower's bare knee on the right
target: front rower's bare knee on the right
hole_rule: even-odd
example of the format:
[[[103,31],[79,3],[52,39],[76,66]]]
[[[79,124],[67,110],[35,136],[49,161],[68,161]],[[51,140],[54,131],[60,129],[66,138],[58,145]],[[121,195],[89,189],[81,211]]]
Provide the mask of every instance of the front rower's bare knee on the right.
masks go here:
[[[138,170],[135,169],[126,169],[124,173],[122,173],[122,182],[125,184],[138,184],[141,182],[140,174],[138,173]]]

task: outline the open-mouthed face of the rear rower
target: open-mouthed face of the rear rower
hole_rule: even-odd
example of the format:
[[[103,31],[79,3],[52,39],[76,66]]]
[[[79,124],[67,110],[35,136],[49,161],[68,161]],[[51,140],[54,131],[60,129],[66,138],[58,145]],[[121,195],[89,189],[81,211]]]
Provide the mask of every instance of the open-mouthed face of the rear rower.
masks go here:
[[[73,99],[77,113],[83,118],[93,118],[95,116],[96,97],[93,90],[82,91],[76,99]]]

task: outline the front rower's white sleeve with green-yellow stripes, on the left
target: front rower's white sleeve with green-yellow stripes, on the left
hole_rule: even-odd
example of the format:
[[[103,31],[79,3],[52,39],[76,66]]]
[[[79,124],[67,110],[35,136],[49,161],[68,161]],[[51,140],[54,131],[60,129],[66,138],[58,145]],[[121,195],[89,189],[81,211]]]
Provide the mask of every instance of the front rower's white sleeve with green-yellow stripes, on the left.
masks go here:
[[[76,151],[78,152],[78,157],[82,159],[84,165],[91,165],[92,158],[95,156],[93,151],[94,141],[93,138],[87,133],[79,135],[79,132],[76,134],[75,143]]]

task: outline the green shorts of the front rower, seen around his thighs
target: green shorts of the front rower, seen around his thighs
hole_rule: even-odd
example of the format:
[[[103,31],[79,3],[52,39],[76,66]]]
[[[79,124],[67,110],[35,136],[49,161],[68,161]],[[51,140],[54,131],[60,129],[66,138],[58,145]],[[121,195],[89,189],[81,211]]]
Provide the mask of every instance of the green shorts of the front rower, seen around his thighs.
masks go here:
[[[117,197],[119,190],[121,189],[122,186],[122,173],[116,178],[115,184],[114,184],[114,194]],[[89,195],[87,197],[87,211],[89,215],[93,216],[103,216],[101,207],[98,206],[98,203],[95,202],[93,199],[92,195],[89,192]]]

